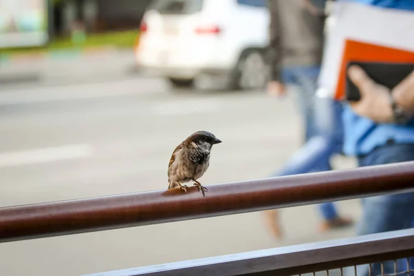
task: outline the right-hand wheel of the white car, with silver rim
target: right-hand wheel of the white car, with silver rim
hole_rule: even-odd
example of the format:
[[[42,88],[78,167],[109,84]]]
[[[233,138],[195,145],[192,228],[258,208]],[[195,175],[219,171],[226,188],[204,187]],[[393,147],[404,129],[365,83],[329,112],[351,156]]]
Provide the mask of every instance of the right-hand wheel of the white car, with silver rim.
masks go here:
[[[239,59],[233,88],[240,90],[261,89],[268,81],[268,68],[262,52],[250,50]]]

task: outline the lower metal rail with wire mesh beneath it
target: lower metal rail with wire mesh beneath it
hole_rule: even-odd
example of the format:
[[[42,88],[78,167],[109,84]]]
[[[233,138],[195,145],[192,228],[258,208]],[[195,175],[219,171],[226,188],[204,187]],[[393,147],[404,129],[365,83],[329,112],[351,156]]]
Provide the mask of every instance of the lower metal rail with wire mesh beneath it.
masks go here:
[[[411,256],[414,228],[88,276],[414,276]]]

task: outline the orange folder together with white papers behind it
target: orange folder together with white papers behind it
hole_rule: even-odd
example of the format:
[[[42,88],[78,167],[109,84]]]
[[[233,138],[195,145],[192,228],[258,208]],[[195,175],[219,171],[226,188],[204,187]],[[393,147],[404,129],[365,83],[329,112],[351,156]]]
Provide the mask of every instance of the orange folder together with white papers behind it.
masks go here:
[[[414,62],[414,12],[338,1],[328,31],[319,87],[344,97],[348,61]]]

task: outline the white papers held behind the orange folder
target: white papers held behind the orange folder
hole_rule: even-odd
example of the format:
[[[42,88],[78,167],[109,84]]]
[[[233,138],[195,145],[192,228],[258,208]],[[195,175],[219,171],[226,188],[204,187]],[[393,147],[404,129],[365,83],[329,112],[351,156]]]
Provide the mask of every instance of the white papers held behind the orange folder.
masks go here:
[[[334,97],[346,39],[414,52],[414,12],[337,1],[319,75],[319,88]]]

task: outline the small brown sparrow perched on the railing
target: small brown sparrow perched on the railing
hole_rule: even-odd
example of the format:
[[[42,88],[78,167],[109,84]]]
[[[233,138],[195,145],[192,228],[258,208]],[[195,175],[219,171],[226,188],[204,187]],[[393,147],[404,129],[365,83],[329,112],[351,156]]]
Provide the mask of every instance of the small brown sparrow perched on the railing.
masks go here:
[[[172,152],[168,164],[168,189],[179,188],[187,193],[188,186],[182,184],[194,181],[193,186],[206,197],[208,189],[197,179],[208,169],[211,148],[219,143],[221,141],[207,131],[194,132],[182,141]]]

